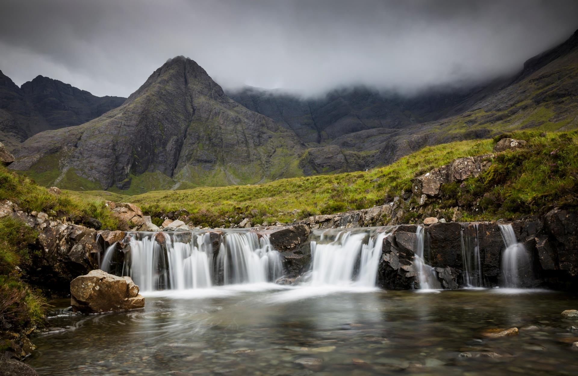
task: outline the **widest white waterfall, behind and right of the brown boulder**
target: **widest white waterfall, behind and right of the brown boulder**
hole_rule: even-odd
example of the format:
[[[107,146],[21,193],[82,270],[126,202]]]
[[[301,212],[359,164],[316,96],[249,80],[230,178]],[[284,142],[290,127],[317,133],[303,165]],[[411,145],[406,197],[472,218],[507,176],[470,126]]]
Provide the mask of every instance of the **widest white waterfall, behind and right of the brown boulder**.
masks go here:
[[[130,252],[123,274],[144,292],[273,282],[283,275],[281,254],[273,249],[268,234],[224,233],[218,255],[213,254],[208,231],[127,236]],[[105,259],[108,254],[107,250]]]

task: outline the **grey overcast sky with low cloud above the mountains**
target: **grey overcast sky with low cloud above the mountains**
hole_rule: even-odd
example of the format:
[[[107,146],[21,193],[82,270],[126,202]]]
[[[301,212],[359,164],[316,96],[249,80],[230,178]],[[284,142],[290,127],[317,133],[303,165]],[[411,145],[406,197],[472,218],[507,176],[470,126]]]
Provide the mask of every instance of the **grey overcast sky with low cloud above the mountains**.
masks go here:
[[[412,93],[509,74],[578,28],[578,1],[0,0],[0,70],[128,96],[184,55],[225,88]]]

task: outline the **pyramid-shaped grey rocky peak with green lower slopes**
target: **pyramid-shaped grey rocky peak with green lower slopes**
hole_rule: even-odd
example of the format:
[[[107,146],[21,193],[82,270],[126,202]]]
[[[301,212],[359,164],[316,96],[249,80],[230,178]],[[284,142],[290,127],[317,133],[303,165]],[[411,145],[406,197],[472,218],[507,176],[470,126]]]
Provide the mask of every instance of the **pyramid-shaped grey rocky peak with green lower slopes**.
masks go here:
[[[38,133],[12,169],[64,188],[253,184],[297,176],[292,131],[228,98],[191,59],[170,59],[128,99],[82,125]]]

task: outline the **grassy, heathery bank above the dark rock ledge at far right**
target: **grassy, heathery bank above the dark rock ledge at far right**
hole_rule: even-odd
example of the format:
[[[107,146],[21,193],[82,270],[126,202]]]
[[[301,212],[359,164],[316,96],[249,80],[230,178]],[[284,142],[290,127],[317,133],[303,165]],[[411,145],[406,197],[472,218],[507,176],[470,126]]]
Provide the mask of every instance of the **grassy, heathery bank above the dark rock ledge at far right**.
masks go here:
[[[462,220],[514,219],[578,206],[578,131],[507,136],[528,145],[498,154],[479,177],[444,187],[442,206],[469,207]]]

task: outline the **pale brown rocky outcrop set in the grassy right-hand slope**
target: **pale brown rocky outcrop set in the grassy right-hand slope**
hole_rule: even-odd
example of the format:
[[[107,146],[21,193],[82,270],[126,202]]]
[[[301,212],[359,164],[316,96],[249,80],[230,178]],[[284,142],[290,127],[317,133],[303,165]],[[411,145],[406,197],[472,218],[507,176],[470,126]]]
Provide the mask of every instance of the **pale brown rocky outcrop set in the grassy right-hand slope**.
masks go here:
[[[491,166],[492,154],[476,155],[454,159],[448,165],[433,169],[412,180],[413,194],[417,197],[427,195],[437,197],[442,184],[464,181],[469,177],[477,177]]]

